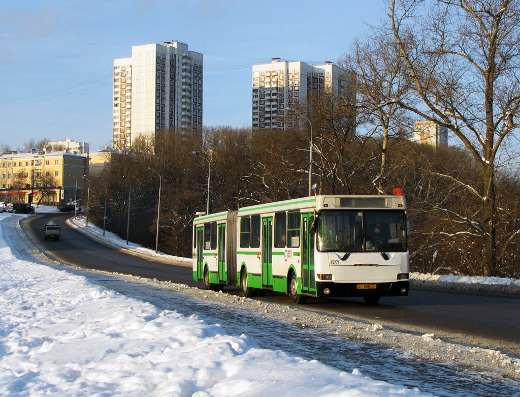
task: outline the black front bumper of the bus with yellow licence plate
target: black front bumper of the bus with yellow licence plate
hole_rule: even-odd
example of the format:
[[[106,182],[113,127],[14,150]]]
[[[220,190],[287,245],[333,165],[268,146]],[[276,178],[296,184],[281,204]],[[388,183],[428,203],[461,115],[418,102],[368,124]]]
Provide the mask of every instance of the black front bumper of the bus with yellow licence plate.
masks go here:
[[[373,288],[375,285],[375,288]],[[410,281],[399,280],[390,283],[316,283],[317,297],[406,297]]]

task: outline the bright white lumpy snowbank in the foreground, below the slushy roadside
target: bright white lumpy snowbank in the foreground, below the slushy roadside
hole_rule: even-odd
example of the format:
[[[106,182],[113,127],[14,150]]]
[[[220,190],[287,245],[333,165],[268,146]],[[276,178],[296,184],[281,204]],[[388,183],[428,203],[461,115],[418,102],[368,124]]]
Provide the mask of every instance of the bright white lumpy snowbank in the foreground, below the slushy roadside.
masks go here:
[[[22,261],[0,219],[0,395],[425,395]],[[429,394],[426,394],[429,395]]]

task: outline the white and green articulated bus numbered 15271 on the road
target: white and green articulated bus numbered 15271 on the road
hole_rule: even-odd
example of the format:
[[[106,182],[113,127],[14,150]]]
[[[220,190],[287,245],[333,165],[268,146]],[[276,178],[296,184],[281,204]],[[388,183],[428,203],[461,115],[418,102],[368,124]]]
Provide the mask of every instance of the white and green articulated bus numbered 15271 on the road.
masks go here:
[[[307,297],[407,296],[403,196],[327,195],[259,204],[193,221],[193,279],[206,289]]]

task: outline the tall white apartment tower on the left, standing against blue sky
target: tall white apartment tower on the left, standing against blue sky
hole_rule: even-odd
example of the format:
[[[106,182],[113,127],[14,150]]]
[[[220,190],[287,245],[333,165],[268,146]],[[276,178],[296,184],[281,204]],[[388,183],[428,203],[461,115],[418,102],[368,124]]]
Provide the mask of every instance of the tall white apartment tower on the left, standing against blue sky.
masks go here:
[[[177,41],[133,46],[131,58],[114,59],[113,146],[168,129],[202,135],[202,63]]]

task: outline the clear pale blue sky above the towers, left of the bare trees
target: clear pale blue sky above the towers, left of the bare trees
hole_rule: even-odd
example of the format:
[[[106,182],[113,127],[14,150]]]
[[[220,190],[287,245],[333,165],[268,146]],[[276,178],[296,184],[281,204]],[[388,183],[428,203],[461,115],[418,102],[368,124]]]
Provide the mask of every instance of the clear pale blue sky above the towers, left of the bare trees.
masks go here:
[[[384,0],[5,2],[0,11],[0,144],[112,138],[113,59],[178,40],[204,54],[204,126],[251,125],[251,69],[271,58],[337,61]]]

